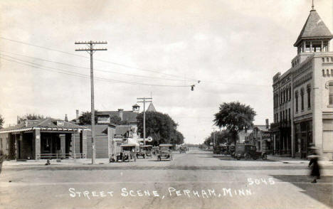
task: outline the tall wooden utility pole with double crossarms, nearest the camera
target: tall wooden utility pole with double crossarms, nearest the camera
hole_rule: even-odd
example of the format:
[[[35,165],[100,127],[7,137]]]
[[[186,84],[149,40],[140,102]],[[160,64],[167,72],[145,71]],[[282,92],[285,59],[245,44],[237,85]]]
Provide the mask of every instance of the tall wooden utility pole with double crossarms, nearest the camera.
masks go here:
[[[95,105],[94,105],[94,68],[93,68],[93,53],[96,50],[107,50],[106,48],[94,48],[96,44],[107,44],[106,41],[83,41],[75,42],[75,44],[85,44],[88,48],[78,48],[75,51],[85,50],[90,54],[90,86],[91,86],[91,163],[96,164],[95,150]]]

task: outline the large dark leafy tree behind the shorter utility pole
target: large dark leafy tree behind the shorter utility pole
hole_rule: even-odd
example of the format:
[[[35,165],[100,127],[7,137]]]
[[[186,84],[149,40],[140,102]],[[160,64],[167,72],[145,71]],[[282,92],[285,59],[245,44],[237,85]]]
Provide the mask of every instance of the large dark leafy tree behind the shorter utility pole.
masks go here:
[[[143,113],[137,115],[137,121],[138,132],[143,133]],[[177,126],[168,114],[146,112],[146,136],[152,136],[154,146],[164,143],[183,144],[184,136],[176,129]]]

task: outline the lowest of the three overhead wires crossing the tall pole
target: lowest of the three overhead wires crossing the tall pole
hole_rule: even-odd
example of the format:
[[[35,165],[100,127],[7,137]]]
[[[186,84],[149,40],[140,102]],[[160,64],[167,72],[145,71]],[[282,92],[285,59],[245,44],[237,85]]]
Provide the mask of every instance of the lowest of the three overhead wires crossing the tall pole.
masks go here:
[[[0,54],[1,56],[3,56],[2,54]],[[31,63],[31,64],[26,64],[26,63],[30,63],[28,61],[25,61],[25,60],[20,60],[21,62],[18,62],[16,58],[16,60],[13,60],[13,59],[8,59],[8,58],[3,58],[3,57],[0,57],[1,59],[4,59],[4,60],[7,60],[7,61],[10,61],[10,62],[14,62],[14,63],[19,63],[21,65],[27,65],[27,66],[30,66],[32,68],[38,68],[38,69],[41,69],[41,70],[48,70],[48,69],[45,69],[45,68],[49,68],[51,70],[48,70],[48,71],[52,71],[52,72],[56,72],[56,73],[63,73],[63,74],[66,74],[66,75],[73,75],[73,76],[77,76],[77,77],[83,77],[83,78],[89,78],[88,75],[85,75],[85,74],[82,74],[82,73],[75,73],[75,72],[70,72],[70,71],[67,71],[67,70],[61,70],[61,69],[58,69],[58,68],[51,68],[51,67],[47,67],[47,66],[43,66],[43,65],[38,65],[36,63]],[[56,71],[56,70],[59,70],[59,71]],[[190,85],[158,85],[158,84],[149,84],[149,83],[142,83],[142,82],[130,82],[130,81],[124,81],[124,80],[113,80],[113,79],[107,79],[107,78],[104,78],[104,77],[95,77],[96,80],[102,80],[102,81],[105,81],[105,82],[112,82],[112,83],[115,83],[115,82],[118,82],[118,83],[123,83],[123,84],[129,84],[129,85],[145,85],[145,86],[157,86],[157,87],[190,87]]]

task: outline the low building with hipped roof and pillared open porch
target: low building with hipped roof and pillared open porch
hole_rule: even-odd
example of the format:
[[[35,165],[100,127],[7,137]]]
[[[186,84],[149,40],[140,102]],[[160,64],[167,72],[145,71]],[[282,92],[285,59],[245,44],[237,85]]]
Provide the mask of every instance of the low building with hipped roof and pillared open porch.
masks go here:
[[[9,159],[85,157],[87,132],[61,119],[26,120],[0,129],[0,149]]]

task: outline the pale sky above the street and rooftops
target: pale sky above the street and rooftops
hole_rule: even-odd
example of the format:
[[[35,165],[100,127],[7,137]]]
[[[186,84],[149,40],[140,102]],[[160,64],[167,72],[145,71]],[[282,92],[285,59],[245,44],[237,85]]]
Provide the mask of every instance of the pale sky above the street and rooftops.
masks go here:
[[[0,114],[8,126],[28,113],[74,119],[75,109],[90,111],[90,59],[74,43],[91,40],[107,41],[93,55],[97,110],[132,110],[152,95],[194,144],[212,132],[223,102],[253,107],[254,124],[273,122],[273,76],[291,68],[311,4],[2,0]],[[314,0],[314,9],[332,31],[332,0]]]

